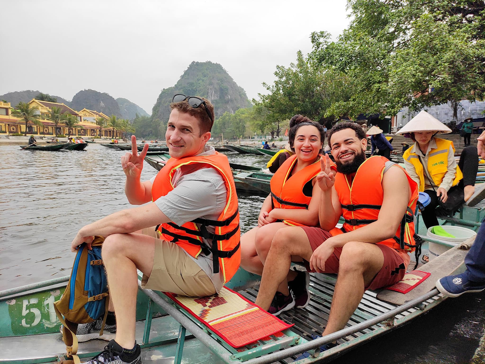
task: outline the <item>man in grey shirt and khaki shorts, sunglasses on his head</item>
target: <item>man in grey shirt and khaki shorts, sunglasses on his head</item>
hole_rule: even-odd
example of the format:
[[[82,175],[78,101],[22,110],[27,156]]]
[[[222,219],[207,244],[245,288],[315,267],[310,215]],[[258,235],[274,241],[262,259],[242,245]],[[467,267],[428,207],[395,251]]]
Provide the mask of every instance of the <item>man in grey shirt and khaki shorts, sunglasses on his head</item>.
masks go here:
[[[209,157],[207,160],[211,163],[214,161],[214,167],[207,164],[205,158],[202,163],[182,163],[178,168],[177,163],[172,163],[174,169],[160,171],[160,179],[156,180],[154,177],[141,182],[140,175],[148,144],[145,144],[138,155],[136,138],[132,136],[132,153],[127,152],[121,158],[126,174],[125,193],[131,204],[143,206],[116,212],[82,227],[71,243],[71,250],[75,252],[83,241],[90,245],[95,235],[106,237],[102,254],[112,298],[110,311],[116,310],[117,326],[116,338],[110,341],[108,350],[113,351],[113,357],[122,357],[119,353],[123,352],[123,358],[129,362],[137,360],[140,355],[139,346],[135,342],[137,269],[143,272],[142,286],[145,288],[200,297],[219,291],[228,278],[227,269],[215,269],[218,267],[219,258],[213,262],[211,251],[220,254],[226,261],[231,261],[234,255],[232,262],[236,264],[239,264],[240,259],[239,254],[236,254],[239,253],[239,244],[236,243],[240,236],[237,196],[235,191],[229,193],[226,188],[226,185],[231,189],[234,186],[234,182],[228,180],[232,179],[232,173],[227,158],[206,145],[214,120],[213,106],[209,100],[203,98],[175,95],[170,107],[172,112],[165,137],[170,156],[175,158],[171,160],[178,163],[178,160],[186,157],[198,158],[197,160],[200,157]],[[188,160],[191,159],[184,159]],[[171,172],[169,181],[165,179],[167,171]],[[229,173],[225,173],[223,177],[222,171]],[[157,188],[152,189],[152,186]],[[234,211],[228,214],[230,218],[226,218],[228,210]],[[207,222],[201,224],[202,220],[217,221],[221,216],[224,216],[221,218],[224,221],[230,220],[230,227],[233,229],[230,240],[223,240],[226,239],[226,243],[230,242],[234,247],[230,244],[229,248],[227,245],[222,249],[219,245],[212,247],[209,238],[217,230],[219,238],[216,240],[219,243],[222,235],[227,235],[229,225],[218,225],[215,228],[210,224],[206,226]],[[188,243],[184,243],[185,245],[178,242],[177,237],[173,240],[177,243],[163,240],[155,230],[155,226],[159,224],[163,226],[161,231],[164,236],[167,236],[167,231],[173,233],[169,231],[172,226],[176,226],[177,230],[182,225],[190,224],[196,233],[203,231],[204,237],[189,233],[189,239],[186,239]],[[190,244],[191,236],[193,242],[195,241],[193,245]],[[194,250],[199,253],[194,253]],[[225,266],[226,263],[221,264]],[[237,267],[231,266],[232,273]],[[91,331],[98,327],[89,325]],[[88,363],[95,363],[94,359],[96,358]]]

